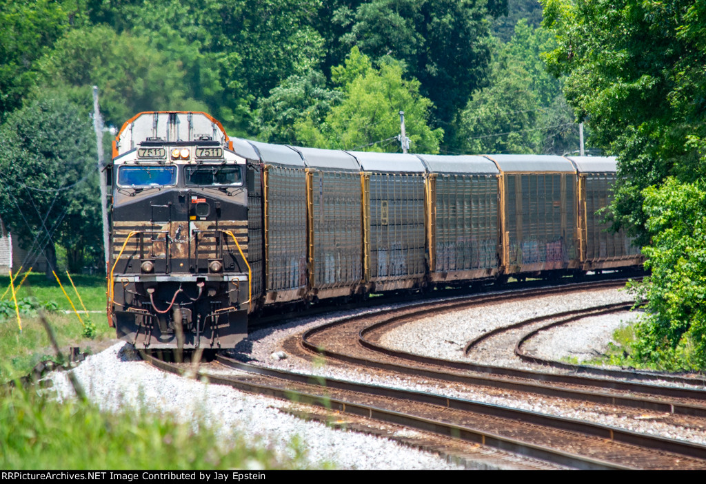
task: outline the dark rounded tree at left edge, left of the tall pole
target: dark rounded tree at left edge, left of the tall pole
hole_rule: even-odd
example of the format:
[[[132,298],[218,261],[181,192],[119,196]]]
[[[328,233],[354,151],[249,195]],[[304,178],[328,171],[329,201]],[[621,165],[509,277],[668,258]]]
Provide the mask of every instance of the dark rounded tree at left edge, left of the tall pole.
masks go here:
[[[102,247],[95,158],[88,113],[65,97],[32,99],[0,126],[0,216],[25,244],[37,239],[47,277],[54,244],[73,251],[73,268]]]

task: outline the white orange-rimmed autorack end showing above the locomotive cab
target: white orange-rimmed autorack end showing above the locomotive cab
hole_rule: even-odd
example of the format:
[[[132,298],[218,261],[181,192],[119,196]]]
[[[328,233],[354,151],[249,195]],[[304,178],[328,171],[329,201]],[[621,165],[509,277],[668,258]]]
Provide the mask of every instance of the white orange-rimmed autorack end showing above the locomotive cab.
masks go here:
[[[206,113],[147,111],[128,119],[115,137],[114,156],[135,149],[141,143],[211,142],[225,146],[229,141],[221,123]]]

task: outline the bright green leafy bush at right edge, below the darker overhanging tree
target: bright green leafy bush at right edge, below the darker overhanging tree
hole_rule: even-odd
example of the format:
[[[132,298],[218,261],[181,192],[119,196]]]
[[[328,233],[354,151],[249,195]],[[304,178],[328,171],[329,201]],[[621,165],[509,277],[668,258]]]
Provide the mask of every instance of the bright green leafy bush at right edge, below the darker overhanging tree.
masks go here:
[[[647,315],[636,356],[667,369],[706,368],[706,182],[668,178],[645,190]]]

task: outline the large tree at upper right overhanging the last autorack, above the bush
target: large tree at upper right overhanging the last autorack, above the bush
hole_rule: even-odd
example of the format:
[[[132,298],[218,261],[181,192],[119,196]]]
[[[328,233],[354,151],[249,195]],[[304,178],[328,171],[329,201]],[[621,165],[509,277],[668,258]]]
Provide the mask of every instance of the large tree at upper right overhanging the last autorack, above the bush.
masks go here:
[[[565,93],[593,144],[618,155],[616,226],[649,243],[643,190],[669,175],[704,178],[706,4],[692,0],[546,0]]]

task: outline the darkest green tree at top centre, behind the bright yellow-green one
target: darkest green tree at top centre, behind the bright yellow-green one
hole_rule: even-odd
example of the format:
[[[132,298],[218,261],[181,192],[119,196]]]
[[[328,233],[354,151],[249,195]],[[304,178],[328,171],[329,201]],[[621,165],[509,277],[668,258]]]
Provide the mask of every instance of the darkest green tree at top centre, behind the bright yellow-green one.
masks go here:
[[[446,126],[484,85],[490,61],[486,16],[504,13],[506,6],[507,0],[370,0],[355,10],[342,6],[334,20],[347,27],[342,43],[373,59],[404,61]]]

